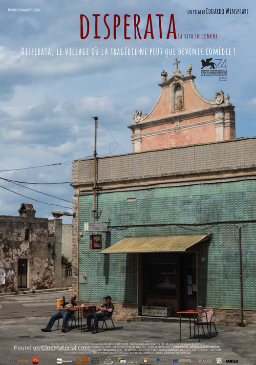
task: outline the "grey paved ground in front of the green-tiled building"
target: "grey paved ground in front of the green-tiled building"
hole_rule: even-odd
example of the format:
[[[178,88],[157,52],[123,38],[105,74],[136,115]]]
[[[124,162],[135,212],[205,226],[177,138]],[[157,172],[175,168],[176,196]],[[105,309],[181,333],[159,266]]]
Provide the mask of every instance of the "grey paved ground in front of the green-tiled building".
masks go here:
[[[22,297],[15,299],[14,303],[23,306],[28,300]],[[13,302],[10,300],[7,303]],[[36,306],[38,303],[34,303],[33,314],[36,308],[41,308]],[[0,304],[6,305],[6,297],[1,298]],[[46,307],[48,311],[51,308]],[[0,365],[17,360],[18,363],[32,363],[34,357],[39,359],[40,365],[71,361],[75,364],[84,363],[82,358],[88,358],[89,365],[119,365],[119,357],[124,359],[122,362],[137,362],[138,365],[144,365],[144,358],[147,359],[147,365],[172,364],[177,360],[182,364],[217,364],[232,360],[240,365],[256,365],[255,327],[219,325],[218,336],[210,339],[200,336],[199,343],[197,339],[189,338],[187,322],[182,323],[182,340],[179,341],[179,323],[115,322],[116,330],[98,334],[81,333],[78,329],[62,333],[55,324],[53,331],[41,332],[40,329],[46,326],[48,320],[49,315],[41,316],[39,312],[37,316],[27,313],[25,318],[3,319]]]

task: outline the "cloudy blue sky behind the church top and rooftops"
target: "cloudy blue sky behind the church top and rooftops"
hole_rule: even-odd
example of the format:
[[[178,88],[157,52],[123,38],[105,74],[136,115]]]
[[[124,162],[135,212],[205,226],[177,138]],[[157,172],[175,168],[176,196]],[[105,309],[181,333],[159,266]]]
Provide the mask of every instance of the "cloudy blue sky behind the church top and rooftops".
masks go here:
[[[23,202],[33,204],[36,217],[50,218],[53,209],[72,212],[73,188],[69,183],[53,183],[70,182],[72,161],[93,155],[92,117],[99,118],[98,156],[132,152],[127,125],[132,124],[135,110],[148,113],[152,109],[160,93],[160,73],[164,69],[172,75],[176,57],[183,74],[193,64],[197,89],[205,98],[214,99],[220,90],[230,94],[236,106],[237,137],[256,135],[255,3],[226,0],[225,8],[219,0],[191,4],[188,0],[1,1],[0,214],[17,216]],[[248,15],[226,14],[226,8],[242,6]],[[215,9],[225,14],[198,13]],[[89,21],[86,39],[80,38],[80,14]],[[92,14],[100,14],[97,39]],[[105,14],[109,14],[108,39],[104,39],[108,36]],[[116,39],[114,14],[120,16]],[[124,39],[124,14],[131,15],[127,18],[131,39]],[[142,39],[134,36],[134,14],[140,16]],[[154,39],[149,33],[143,38],[148,14],[152,14]],[[155,14],[163,14],[162,38]],[[166,39],[170,14],[174,14],[177,39],[173,34]],[[87,23],[83,26],[86,34]],[[202,34],[217,34],[217,39],[202,39]],[[112,54],[125,47],[126,52],[137,50],[137,55]],[[31,55],[29,49],[40,53],[43,49],[44,54]],[[76,55],[80,49],[86,54]],[[140,49],[147,54],[140,55]],[[186,54],[193,49],[202,49],[203,56]],[[228,49],[228,55],[213,56],[226,60],[221,64],[227,66],[227,81],[200,75],[201,59],[209,57],[207,49]],[[182,50],[184,54],[179,54]],[[166,56],[171,51],[175,55]],[[70,218],[63,222],[70,223]]]

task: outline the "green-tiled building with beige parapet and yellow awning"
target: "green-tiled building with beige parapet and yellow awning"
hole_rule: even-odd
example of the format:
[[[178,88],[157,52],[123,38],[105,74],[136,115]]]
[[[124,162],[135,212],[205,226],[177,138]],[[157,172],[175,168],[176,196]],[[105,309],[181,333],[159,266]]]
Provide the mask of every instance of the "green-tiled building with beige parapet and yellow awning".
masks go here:
[[[73,162],[80,300],[110,294],[117,318],[141,315],[143,306],[172,307],[176,316],[202,305],[239,324],[243,298],[245,321],[256,323],[256,137],[232,136],[172,148],[156,140],[154,151],[98,158],[96,212],[94,160]],[[107,222],[102,250],[91,249],[90,235],[99,232],[85,232],[85,222]]]

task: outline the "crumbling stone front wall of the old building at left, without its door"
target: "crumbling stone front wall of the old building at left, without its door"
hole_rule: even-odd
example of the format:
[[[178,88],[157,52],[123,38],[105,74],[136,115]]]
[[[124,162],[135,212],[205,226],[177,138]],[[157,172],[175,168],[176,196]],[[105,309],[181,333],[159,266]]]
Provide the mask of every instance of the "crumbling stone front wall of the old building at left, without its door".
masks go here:
[[[0,267],[6,273],[2,291],[18,287],[18,259],[27,260],[27,287],[54,285],[55,242],[48,240],[48,219],[0,216]]]

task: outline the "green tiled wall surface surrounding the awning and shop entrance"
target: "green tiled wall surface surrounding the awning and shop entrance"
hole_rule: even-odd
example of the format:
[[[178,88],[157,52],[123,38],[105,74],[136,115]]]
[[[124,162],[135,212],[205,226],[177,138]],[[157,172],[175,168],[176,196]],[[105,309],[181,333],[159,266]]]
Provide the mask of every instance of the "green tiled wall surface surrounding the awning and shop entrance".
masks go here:
[[[137,198],[137,200],[129,200]],[[128,199],[128,200],[127,200]],[[234,223],[256,219],[256,181],[198,184],[109,192],[97,195],[98,222],[111,226],[131,225],[103,233],[103,249],[129,237],[194,235],[212,233],[210,244],[199,243],[199,302],[203,306],[240,307],[239,244]],[[84,222],[93,222],[93,195],[79,198],[79,231]],[[136,224],[208,223],[201,226],[134,227]],[[241,223],[245,225],[245,223]],[[79,238],[79,271],[86,271],[88,284],[79,285],[83,300],[101,300],[110,294],[115,302],[137,302],[136,254],[101,255],[90,250],[89,235]],[[255,242],[256,223],[242,228],[244,308],[256,308]],[[202,261],[205,258],[205,261]]]

